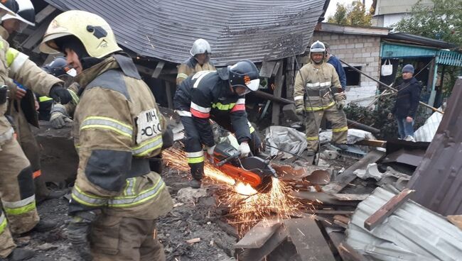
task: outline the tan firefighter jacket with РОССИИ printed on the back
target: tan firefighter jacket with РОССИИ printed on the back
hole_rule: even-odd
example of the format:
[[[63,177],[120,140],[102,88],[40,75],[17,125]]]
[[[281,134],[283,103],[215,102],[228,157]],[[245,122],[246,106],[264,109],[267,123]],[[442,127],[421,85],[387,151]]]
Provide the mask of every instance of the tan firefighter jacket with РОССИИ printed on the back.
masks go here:
[[[80,101],[73,135],[79,155],[69,214],[100,209],[153,219],[172,208],[166,184],[149,169],[166,122],[133,60],[114,54],[75,77]]]

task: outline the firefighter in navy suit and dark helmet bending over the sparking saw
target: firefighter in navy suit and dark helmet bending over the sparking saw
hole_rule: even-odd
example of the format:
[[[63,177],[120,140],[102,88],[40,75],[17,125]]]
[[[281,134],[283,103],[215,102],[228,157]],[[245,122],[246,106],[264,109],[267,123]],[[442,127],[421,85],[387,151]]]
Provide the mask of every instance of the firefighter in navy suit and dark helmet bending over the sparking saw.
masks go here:
[[[191,187],[200,187],[204,172],[203,145],[213,154],[215,142],[209,118],[235,133],[242,156],[252,150],[258,154],[262,146],[247,120],[245,94],[257,91],[259,73],[248,61],[217,71],[203,71],[185,79],[176,90],[173,103],[185,127],[185,149],[193,180]]]

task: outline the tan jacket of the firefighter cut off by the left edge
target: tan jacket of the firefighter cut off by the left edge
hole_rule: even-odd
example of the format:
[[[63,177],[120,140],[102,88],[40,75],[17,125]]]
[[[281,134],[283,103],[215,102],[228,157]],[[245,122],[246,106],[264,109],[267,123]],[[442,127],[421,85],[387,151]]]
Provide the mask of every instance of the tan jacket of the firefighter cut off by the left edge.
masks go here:
[[[4,40],[9,37],[9,34],[1,26],[0,36],[1,85],[6,84],[9,90],[13,90],[13,88],[16,88],[16,84],[11,79],[15,79],[17,82],[31,87],[31,90],[38,94],[48,95],[53,85],[63,83],[63,81],[53,77],[53,75],[43,72],[40,67],[28,59],[27,55],[14,48],[9,48],[9,43]],[[4,116],[6,109],[6,104],[0,106],[0,145],[5,140],[9,140],[14,133],[11,124]]]

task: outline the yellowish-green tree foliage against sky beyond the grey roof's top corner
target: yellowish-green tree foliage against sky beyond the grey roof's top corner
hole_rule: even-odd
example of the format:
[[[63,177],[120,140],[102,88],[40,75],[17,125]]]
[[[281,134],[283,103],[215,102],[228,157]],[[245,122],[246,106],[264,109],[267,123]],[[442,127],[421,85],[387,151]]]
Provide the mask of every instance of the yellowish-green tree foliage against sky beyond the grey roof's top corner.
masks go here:
[[[373,13],[374,10],[367,13],[360,0],[355,0],[348,6],[337,3],[335,14],[330,16],[327,21],[342,26],[371,26]]]

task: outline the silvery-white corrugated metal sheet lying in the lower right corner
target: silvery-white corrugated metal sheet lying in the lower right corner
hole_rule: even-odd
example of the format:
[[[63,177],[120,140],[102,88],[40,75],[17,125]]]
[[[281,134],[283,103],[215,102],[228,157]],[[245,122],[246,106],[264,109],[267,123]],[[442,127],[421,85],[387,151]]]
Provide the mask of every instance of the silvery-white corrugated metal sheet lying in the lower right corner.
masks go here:
[[[462,231],[442,216],[407,201],[382,224],[367,231],[364,221],[394,194],[377,188],[358,204],[346,242],[372,260],[460,260]]]

